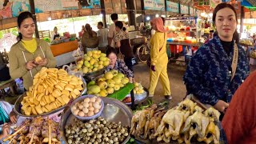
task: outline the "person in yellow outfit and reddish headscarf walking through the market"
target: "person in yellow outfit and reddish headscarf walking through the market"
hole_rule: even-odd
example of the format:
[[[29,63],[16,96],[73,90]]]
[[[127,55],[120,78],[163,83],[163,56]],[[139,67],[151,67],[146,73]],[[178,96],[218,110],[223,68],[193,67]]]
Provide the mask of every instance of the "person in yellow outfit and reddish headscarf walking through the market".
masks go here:
[[[158,78],[160,78],[165,98],[171,99],[170,82],[167,74],[166,30],[163,27],[162,18],[154,18],[150,23],[152,28],[156,30],[150,39],[150,97],[154,96],[154,90],[158,84]]]

